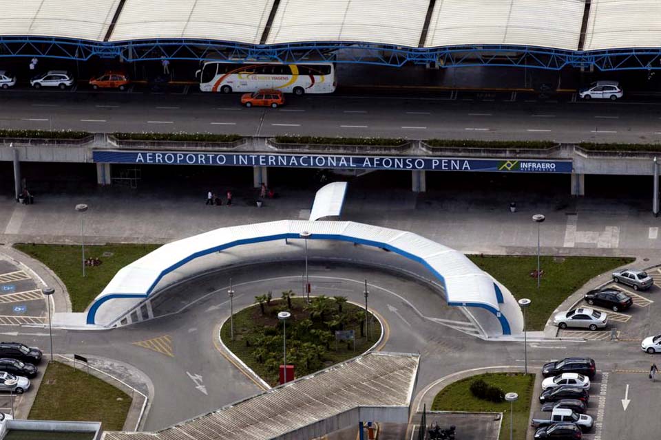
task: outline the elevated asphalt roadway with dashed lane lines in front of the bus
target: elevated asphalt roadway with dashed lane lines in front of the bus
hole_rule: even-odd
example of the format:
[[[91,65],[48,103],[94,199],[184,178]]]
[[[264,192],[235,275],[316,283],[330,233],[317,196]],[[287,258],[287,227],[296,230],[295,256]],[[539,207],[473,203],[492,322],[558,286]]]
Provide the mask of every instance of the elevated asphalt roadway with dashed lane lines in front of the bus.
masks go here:
[[[78,89],[77,87],[80,87]],[[576,102],[574,94],[367,91],[288,96],[281,109],[245,109],[239,95],[194,86],[151,92],[0,91],[0,129],[186,131],[412,139],[657,142],[661,107],[649,96]]]

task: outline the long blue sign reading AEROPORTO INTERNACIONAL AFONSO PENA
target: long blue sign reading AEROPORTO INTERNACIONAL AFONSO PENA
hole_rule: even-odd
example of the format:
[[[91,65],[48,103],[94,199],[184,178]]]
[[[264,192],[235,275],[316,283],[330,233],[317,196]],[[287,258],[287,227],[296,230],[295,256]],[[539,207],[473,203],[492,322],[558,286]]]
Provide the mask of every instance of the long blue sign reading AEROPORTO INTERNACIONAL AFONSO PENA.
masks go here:
[[[492,171],[501,173],[571,173],[571,160],[200,153],[177,151],[94,151],[94,162],[144,165],[280,166],[364,170]]]

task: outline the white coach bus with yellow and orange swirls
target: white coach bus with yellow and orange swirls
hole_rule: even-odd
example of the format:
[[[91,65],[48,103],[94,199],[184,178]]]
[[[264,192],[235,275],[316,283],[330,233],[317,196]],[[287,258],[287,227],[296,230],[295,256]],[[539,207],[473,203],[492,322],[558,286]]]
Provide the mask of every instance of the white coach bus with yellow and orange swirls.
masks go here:
[[[331,94],[335,91],[333,63],[240,64],[207,61],[197,74],[201,91],[258,91],[277,89],[284,93]]]

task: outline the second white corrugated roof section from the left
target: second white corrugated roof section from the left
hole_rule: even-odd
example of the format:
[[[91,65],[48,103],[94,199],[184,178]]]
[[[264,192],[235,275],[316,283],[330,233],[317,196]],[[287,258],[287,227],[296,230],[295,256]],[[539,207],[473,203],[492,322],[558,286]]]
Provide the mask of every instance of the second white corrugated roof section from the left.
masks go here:
[[[110,41],[210,39],[258,44],[273,0],[127,0]]]

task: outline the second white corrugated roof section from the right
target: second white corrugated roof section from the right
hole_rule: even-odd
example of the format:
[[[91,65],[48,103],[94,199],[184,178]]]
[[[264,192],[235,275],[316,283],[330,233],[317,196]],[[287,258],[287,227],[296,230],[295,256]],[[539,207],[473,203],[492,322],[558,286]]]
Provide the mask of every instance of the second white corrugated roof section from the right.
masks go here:
[[[522,45],[578,50],[584,0],[442,0],[426,47]]]

